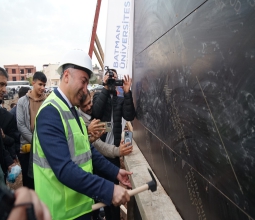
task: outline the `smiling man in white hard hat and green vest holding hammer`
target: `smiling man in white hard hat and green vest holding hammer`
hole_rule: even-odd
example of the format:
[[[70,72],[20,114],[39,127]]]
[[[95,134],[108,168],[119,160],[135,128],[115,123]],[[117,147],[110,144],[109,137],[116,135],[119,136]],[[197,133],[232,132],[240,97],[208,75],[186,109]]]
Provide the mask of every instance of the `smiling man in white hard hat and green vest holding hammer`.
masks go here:
[[[77,108],[92,74],[91,58],[84,51],[65,54],[57,69],[60,86],[44,101],[36,117],[33,138],[35,191],[53,219],[91,220],[94,199],[107,205],[124,204],[131,187],[128,172],[108,162],[88,140]],[[112,181],[93,175],[101,170]]]

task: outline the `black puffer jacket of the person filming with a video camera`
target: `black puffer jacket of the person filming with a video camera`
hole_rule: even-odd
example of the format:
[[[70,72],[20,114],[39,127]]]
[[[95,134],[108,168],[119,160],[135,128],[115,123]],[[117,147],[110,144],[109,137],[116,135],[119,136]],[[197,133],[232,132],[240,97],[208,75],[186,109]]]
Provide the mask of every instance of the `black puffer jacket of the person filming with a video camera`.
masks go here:
[[[122,133],[122,117],[126,121],[132,121],[135,118],[135,107],[132,92],[124,93],[124,97],[117,96],[117,92],[113,93],[111,98],[107,89],[103,88],[101,92],[97,92],[93,96],[92,115],[101,121],[110,122],[113,110],[113,135],[114,145],[119,146]],[[101,136],[105,141],[106,135]]]

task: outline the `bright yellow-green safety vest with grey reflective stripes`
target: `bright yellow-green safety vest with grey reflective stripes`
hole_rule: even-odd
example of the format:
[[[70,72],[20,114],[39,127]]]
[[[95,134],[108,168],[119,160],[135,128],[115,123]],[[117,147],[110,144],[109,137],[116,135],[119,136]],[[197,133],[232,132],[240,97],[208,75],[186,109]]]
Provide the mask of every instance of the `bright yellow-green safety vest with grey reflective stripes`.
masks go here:
[[[61,116],[72,161],[84,171],[92,173],[92,155],[83,119],[79,117],[84,134],[68,106],[54,92],[41,105],[37,115],[47,105],[54,106]],[[36,126],[33,137],[35,191],[48,206],[52,219],[74,219],[91,212],[94,201],[63,185],[53,173],[41,148]]]

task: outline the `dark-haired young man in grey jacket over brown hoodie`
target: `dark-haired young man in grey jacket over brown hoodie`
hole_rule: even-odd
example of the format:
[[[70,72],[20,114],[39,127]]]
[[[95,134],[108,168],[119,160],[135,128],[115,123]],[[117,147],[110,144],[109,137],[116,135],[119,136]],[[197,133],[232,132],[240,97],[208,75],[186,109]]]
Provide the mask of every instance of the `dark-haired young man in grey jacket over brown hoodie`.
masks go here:
[[[16,117],[18,130],[20,132],[20,154],[19,160],[22,168],[23,186],[34,189],[33,173],[29,172],[30,149],[34,131],[35,116],[46,99],[44,94],[47,77],[43,72],[35,72],[33,75],[33,89],[21,97],[17,103]]]

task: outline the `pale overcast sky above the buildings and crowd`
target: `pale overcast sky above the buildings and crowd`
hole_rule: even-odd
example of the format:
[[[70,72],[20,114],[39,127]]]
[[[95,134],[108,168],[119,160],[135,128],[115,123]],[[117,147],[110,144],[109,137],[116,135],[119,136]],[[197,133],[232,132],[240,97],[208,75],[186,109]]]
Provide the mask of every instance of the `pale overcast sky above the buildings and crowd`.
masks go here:
[[[1,0],[0,66],[58,63],[70,49],[89,50],[96,0]],[[105,46],[108,0],[102,0],[97,35]],[[93,65],[98,63],[95,56]]]

